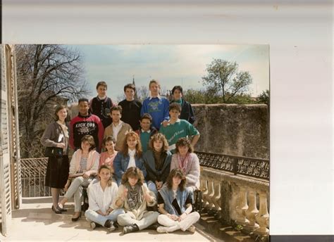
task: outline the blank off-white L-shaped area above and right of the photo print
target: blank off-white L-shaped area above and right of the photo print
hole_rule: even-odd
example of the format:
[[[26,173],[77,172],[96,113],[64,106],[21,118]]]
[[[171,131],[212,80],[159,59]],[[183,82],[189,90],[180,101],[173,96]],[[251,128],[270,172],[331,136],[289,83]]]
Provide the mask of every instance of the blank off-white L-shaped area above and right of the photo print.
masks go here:
[[[89,2],[2,1],[3,43],[269,44],[271,235],[334,234],[332,1]]]

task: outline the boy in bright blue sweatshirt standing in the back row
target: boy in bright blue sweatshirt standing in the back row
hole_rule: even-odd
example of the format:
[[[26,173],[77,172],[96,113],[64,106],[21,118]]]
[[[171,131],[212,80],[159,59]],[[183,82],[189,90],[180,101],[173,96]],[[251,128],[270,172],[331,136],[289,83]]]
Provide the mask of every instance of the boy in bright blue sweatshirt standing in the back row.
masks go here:
[[[152,79],[149,82],[150,96],[146,98],[142,103],[142,110],[140,115],[149,113],[152,117],[152,125],[156,129],[160,129],[161,122],[167,124],[169,120],[168,107],[169,101],[167,98],[160,96],[160,84],[159,81]]]

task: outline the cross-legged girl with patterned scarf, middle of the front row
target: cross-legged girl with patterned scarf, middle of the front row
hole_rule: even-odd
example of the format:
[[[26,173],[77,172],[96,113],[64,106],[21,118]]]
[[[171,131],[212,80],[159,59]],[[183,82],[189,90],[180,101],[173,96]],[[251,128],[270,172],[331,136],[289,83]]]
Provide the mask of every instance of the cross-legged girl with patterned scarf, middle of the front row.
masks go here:
[[[123,234],[146,229],[156,223],[158,212],[147,211],[154,206],[156,197],[144,186],[144,176],[137,167],[130,167],[122,177],[113,208],[124,208],[125,214],[118,215],[117,222],[123,227]]]

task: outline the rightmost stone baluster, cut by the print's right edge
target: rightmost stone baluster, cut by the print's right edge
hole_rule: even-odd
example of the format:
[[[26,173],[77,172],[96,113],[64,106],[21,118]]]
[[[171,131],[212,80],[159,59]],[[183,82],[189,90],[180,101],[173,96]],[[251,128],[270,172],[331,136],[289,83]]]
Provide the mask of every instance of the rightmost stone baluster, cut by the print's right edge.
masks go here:
[[[267,196],[266,192],[261,191],[259,193],[260,200],[260,210],[256,215],[256,222],[259,223],[259,229],[254,231],[255,234],[266,235],[269,234],[269,229],[267,229],[269,225],[269,213],[267,208]]]

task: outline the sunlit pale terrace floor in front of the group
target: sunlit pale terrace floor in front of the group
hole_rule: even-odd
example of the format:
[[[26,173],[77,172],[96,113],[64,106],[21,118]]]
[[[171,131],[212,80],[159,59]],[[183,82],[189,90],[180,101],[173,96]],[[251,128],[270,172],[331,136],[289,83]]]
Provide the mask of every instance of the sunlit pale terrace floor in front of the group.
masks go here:
[[[9,222],[8,235],[0,235],[0,241],[230,241],[218,239],[199,229],[159,234],[154,230],[143,230],[123,235],[121,228],[108,233],[104,228],[91,231],[83,217],[72,222],[73,203],[67,203],[68,212],[56,215],[51,211],[51,198],[23,198],[19,210],[14,210]]]

